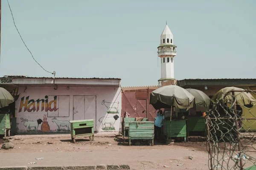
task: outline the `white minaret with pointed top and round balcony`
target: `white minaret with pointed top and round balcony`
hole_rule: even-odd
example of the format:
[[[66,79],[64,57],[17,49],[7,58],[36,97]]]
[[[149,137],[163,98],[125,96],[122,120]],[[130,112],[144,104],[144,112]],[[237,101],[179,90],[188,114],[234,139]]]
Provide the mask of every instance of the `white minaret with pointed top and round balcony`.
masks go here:
[[[158,57],[161,59],[161,79],[158,82],[166,82],[174,79],[174,57],[176,47],[173,45],[173,35],[170,28],[166,26],[161,34],[161,44],[158,48]]]

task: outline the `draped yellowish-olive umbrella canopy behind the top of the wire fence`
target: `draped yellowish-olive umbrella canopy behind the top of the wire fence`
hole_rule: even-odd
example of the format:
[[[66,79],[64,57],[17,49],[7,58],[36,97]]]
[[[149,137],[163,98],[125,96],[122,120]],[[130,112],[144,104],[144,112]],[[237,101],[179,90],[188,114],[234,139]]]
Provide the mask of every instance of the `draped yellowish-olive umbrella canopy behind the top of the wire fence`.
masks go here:
[[[232,101],[233,96],[232,96],[231,91],[235,91],[234,95],[236,96],[236,102],[238,105],[240,105],[240,106],[256,105],[256,99],[254,99],[254,97],[250,93],[236,92],[236,91],[244,91],[244,89],[236,88],[236,87],[222,88],[214,96],[212,96],[212,101],[213,102],[217,102],[217,101],[221,101],[221,100],[223,101],[225,94],[227,94],[227,95],[225,96],[224,102]]]

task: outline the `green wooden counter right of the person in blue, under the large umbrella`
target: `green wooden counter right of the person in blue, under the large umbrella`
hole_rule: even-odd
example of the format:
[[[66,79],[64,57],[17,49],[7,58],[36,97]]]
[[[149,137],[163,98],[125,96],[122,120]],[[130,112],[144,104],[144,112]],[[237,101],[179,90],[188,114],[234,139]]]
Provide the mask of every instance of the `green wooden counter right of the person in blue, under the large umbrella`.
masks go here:
[[[167,139],[184,137],[184,142],[186,142],[186,120],[163,120],[163,134]]]

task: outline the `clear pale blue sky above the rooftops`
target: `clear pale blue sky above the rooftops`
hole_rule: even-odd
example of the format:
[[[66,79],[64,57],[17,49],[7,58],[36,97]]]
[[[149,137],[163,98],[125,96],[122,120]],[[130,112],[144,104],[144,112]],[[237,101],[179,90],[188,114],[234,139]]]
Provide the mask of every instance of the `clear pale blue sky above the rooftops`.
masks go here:
[[[256,0],[9,0],[35,59],[56,77],[157,85],[166,20],[175,79],[256,78]],[[52,77],[2,0],[0,76]]]

